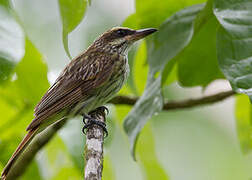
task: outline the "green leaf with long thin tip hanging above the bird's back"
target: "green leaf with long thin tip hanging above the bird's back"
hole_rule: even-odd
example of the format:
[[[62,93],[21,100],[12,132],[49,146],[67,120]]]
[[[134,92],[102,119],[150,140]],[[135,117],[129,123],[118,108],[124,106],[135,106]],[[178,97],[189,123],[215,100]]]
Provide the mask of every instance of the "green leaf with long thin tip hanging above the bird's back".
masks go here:
[[[65,51],[70,59],[68,34],[72,32],[83,19],[87,7],[86,0],[58,0],[63,25],[62,39]]]

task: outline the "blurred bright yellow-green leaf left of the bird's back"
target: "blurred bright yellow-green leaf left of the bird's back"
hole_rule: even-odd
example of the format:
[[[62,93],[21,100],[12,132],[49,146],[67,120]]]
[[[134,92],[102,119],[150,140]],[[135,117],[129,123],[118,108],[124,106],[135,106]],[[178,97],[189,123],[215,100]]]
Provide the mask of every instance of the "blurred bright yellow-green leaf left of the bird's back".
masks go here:
[[[16,67],[17,88],[23,101],[36,105],[49,87],[47,66],[34,45],[26,40],[25,56]]]

